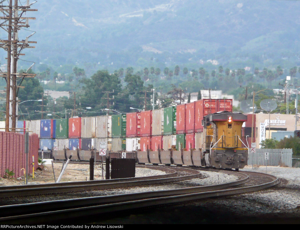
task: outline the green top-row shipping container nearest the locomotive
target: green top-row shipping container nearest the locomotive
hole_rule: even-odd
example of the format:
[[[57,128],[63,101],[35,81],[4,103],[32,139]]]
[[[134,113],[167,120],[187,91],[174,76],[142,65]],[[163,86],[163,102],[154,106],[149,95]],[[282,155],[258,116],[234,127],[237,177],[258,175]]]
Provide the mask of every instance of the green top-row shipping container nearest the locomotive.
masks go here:
[[[164,135],[176,134],[176,107],[164,108]]]

